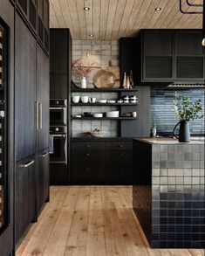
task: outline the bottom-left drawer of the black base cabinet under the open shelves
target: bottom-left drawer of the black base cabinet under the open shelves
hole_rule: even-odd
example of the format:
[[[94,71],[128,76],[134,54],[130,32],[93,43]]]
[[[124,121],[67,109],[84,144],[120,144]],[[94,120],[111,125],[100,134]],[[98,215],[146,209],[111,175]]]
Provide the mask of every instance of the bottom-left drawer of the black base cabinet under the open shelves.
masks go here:
[[[78,180],[98,180],[102,179],[102,166],[89,164],[72,164],[72,179]]]

